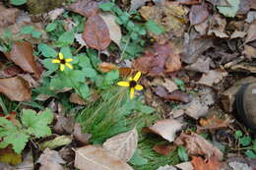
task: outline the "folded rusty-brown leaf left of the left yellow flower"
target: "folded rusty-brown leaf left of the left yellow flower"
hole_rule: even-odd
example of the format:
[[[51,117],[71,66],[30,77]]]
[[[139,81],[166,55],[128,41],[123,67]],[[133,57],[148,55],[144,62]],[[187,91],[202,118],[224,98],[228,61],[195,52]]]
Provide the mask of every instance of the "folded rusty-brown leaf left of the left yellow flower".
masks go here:
[[[10,54],[7,54],[6,57],[20,66],[24,71],[33,73],[36,78],[39,78],[39,70],[32,55],[31,43],[26,41],[15,42]]]

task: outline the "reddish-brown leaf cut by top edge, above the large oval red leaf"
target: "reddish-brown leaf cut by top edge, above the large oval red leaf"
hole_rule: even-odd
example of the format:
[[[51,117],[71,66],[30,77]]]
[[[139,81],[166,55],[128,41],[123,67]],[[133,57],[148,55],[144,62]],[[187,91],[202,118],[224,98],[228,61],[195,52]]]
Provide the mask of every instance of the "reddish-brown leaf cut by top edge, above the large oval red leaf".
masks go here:
[[[85,17],[90,17],[96,15],[98,10],[98,4],[96,1],[92,0],[80,0],[69,6],[69,9],[75,13],[78,13]]]

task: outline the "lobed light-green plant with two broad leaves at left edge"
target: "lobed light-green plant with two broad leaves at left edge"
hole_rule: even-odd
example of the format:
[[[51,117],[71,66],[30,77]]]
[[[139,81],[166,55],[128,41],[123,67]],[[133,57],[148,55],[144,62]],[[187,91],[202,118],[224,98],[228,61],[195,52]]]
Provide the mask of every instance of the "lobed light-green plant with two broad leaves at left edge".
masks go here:
[[[26,143],[31,138],[41,138],[51,135],[48,124],[53,120],[53,113],[46,109],[36,114],[33,110],[23,110],[21,122],[9,121],[0,117],[0,148],[5,148],[12,144],[17,153],[21,153]]]

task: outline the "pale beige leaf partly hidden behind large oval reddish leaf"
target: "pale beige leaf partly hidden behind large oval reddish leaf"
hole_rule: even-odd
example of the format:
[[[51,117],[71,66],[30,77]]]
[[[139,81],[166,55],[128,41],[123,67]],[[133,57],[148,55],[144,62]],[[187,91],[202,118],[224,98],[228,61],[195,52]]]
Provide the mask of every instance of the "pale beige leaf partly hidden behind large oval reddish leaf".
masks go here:
[[[110,39],[120,47],[122,32],[120,26],[115,23],[116,17],[110,12],[101,12],[98,15],[103,19],[107,26]]]

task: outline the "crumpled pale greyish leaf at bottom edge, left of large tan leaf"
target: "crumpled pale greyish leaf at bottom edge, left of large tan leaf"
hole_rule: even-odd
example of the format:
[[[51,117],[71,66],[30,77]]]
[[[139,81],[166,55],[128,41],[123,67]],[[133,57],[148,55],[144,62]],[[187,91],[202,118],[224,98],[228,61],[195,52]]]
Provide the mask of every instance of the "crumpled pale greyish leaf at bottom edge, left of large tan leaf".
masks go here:
[[[43,150],[42,154],[37,160],[40,163],[39,170],[64,170],[60,164],[65,164],[66,162],[60,157],[59,153],[55,150],[50,150],[46,148]]]

